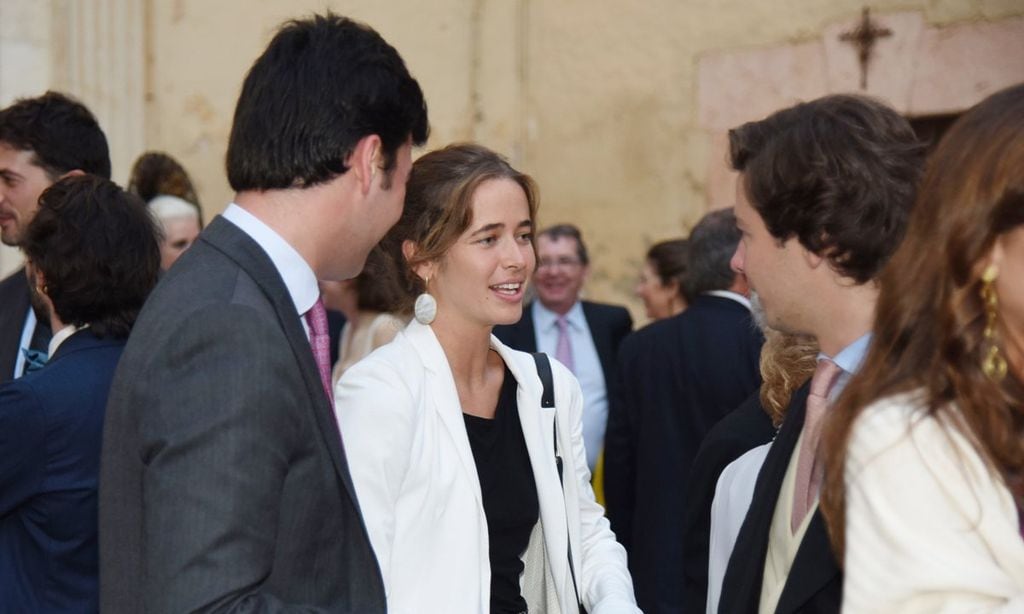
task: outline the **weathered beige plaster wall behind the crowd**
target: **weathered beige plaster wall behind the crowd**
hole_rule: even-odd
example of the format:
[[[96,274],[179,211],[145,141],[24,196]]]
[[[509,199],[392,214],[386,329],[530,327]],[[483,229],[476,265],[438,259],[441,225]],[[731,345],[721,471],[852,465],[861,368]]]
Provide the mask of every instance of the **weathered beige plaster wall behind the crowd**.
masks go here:
[[[701,67],[730,54],[823,46],[862,7],[853,0],[138,1],[145,7],[141,142],[181,159],[208,217],[231,196],[223,157],[246,69],[282,19],[331,8],[369,23],[406,57],[430,106],[429,147],[477,139],[532,174],[542,224],[575,222],[591,245],[588,295],[628,302],[638,316],[632,288],[646,246],[685,234],[710,207],[729,204],[714,195],[715,185],[729,179],[720,164],[721,135],[701,109],[701,88],[709,89]],[[26,0],[0,4],[19,2]],[[870,6],[882,19],[916,15],[939,38],[946,29],[1024,16],[1020,0]],[[812,87],[818,77],[800,61],[791,69],[794,79],[765,80],[770,91],[758,87],[761,76],[748,75],[753,93],[744,95],[756,99],[733,105],[760,113],[759,100],[829,91]],[[941,84],[941,73],[929,75],[922,78]],[[958,95],[950,109],[969,103]]]

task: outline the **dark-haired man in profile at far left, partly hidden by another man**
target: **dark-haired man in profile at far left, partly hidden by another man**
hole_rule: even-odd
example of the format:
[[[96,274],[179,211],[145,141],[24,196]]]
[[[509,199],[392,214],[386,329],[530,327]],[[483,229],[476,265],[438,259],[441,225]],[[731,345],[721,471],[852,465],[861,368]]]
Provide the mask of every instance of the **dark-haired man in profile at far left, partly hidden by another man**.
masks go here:
[[[80,102],[46,92],[0,111],[0,240],[19,246],[43,190],[82,173],[110,178],[111,156],[96,118]],[[30,308],[19,268],[0,281],[0,384],[41,364],[50,335],[49,322]]]

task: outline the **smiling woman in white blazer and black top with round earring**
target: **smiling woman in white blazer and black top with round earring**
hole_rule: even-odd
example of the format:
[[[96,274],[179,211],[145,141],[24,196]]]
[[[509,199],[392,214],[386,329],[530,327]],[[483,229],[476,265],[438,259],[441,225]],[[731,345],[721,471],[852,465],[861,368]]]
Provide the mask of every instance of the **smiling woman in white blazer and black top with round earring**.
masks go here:
[[[528,177],[452,145],[413,166],[385,239],[417,318],[344,374],[336,405],[389,612],[639,611],[590,487],[580,385],[551,360],[542,406],[534,356],[490,335],[521,315],[535,217]]]

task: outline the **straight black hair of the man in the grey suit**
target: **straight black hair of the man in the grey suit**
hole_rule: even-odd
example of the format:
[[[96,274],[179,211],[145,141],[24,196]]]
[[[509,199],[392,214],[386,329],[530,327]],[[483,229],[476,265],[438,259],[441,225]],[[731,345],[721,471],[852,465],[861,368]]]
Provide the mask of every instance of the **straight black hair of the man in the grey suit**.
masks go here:
[[[420,85],[379,34],[330,12],[288,21],[242,86],[227,179],[237,191],[324,183],[371,134],[390,174],[398,147],[427,133]]]

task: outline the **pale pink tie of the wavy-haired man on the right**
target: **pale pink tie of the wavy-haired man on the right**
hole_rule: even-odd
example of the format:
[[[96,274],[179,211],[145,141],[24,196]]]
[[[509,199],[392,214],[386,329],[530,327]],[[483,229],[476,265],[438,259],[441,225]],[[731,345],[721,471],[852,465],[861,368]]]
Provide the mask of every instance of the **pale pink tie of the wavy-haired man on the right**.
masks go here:
[[[804,517],[814,505],[821,488],[821,477],[824,468],[817,462],[818,442],[821,440],[821,419],[825,415],[828,405],[828,391],[843,368],[829,360],[822,358],[814,369],[811,378],[811,393],[807,396],[807,413],[804,416],[803,439],[800,443],[800,456],[797,457],[797,484],[793,489],[793,517],[790,528],[796,533]]]

